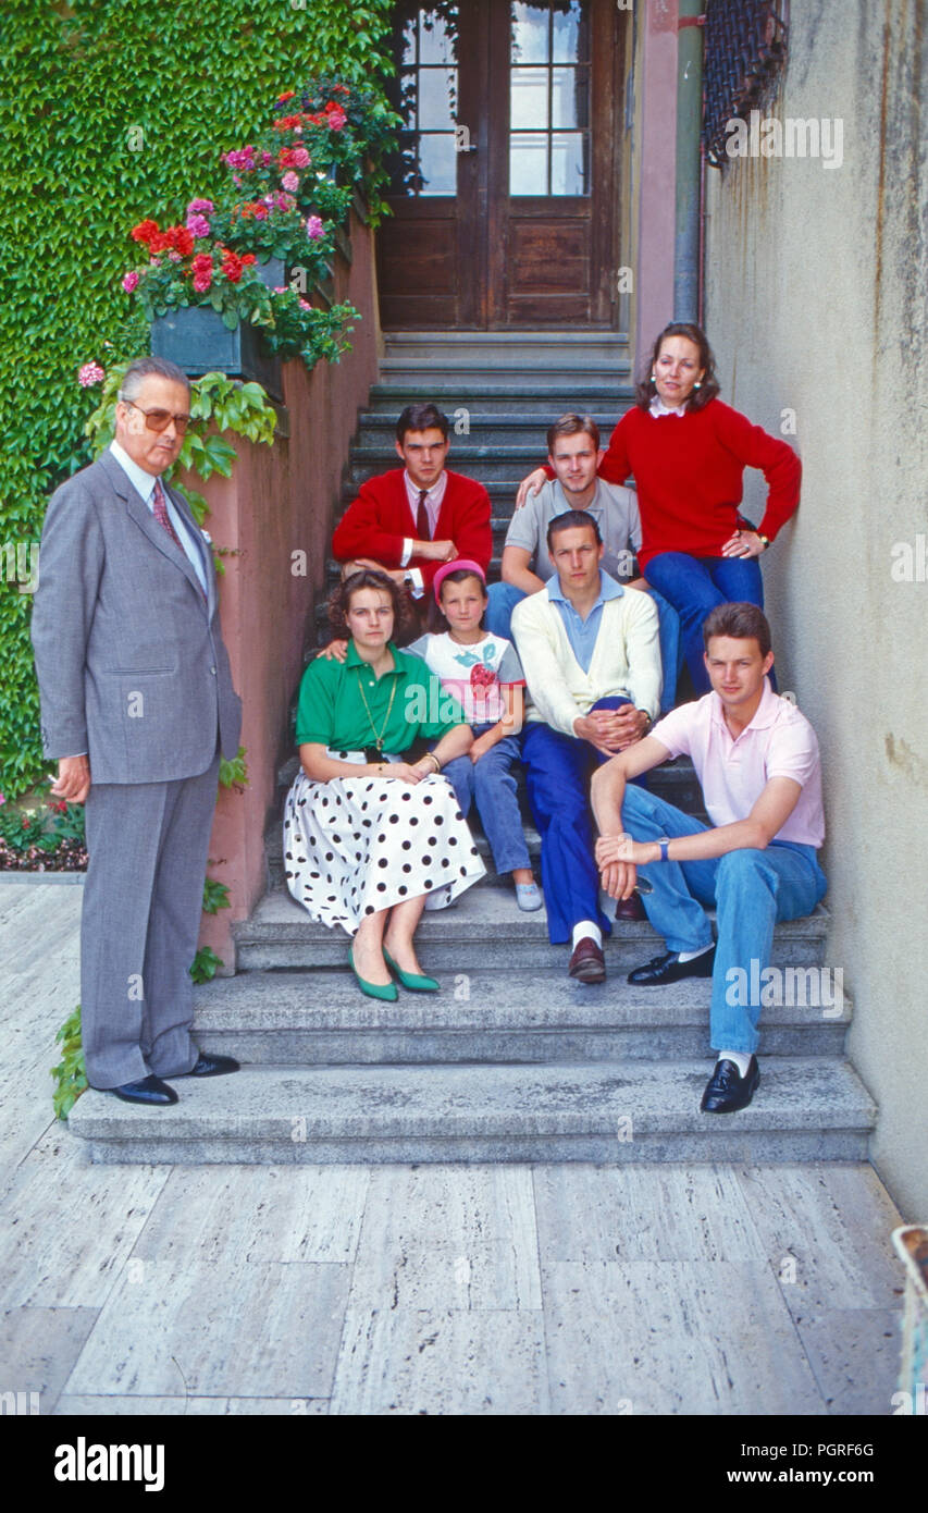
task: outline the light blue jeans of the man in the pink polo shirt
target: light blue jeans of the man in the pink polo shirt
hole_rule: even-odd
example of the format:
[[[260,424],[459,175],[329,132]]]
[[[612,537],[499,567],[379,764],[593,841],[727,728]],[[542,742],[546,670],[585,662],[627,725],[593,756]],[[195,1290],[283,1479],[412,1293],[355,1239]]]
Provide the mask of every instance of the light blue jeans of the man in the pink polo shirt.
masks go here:
[[[632,785],[626,788],[621,819],[636,841],[709,829],[673,803]],[[718,943],[712,971],[712,1047],[751,1055],[760,1039],[760,1003],[745,1003],[748,994],[739,991],[739,976],[744,973],[747,982],[759,980],[769,965],[774,924],[812,914],[824,897],[825,875],[815,846],[771,841],[766,850],[744,847],[710,861],[648,862],[641,873],[654,890],[642,894],[647,917],[664,935],[668,950],[710,946],[712,927],[703,905],[715,905]],[[757,962],[756,971],[753,962]]]

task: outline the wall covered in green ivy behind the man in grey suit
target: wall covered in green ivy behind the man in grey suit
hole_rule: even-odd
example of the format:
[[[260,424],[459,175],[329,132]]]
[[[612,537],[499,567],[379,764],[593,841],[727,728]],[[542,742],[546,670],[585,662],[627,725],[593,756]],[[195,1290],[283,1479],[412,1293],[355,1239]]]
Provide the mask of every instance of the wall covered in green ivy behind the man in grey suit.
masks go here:
[[[284,89],[320,70],[370,83],[390,0],[3,0],[0,24],[0,791],[42,776],[29,616],[17,567],[50,492],[91,460],[98,389],[148,350],[121,275],[145,216],[183,219],[221,188]]]

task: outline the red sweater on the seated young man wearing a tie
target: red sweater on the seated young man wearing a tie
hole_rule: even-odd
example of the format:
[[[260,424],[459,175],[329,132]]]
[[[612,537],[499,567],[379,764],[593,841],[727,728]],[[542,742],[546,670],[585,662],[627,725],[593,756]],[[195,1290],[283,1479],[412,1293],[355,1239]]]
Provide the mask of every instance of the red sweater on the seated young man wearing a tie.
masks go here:
[[[404,474],[405,468],[394,468],[361,484],[358,498],[348,505],[333,536],[333,554],[339,561],[373,557],[384,567],[401,566],[404,540],[419,537]],[[434,540],[453,542],[458,557],[472,557],[487,570],[493,554],[490,495],[482,483],[462,474],[446,469],[446,478]],[[413,554],[407,566],[419,567],[429,589],[441,563]]]

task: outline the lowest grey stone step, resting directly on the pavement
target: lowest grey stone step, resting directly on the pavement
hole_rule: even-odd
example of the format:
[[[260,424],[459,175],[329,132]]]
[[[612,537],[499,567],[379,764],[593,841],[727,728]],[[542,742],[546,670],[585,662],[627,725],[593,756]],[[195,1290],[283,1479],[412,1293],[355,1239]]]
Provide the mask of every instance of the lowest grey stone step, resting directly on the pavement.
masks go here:
[[[700,1112],[710,1058],[511,1067],[246,1067],[165,1109],[89,1089],[92,1162],[866,1160],[874,1103],[830,1058],[768,1059],[750,1108]]]

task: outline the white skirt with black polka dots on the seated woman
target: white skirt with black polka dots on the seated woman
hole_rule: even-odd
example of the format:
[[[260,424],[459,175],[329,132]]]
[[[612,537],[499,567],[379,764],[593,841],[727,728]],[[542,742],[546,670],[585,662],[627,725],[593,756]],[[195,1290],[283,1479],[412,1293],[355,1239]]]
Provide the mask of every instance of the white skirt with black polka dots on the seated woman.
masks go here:
[[[441,909],[485,871],[447,778],[298,773],[284,805],[287,888],[314,920],[354,935],[366,914],[426,894]]]

